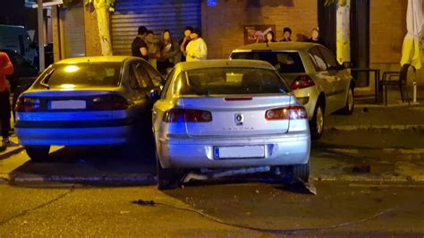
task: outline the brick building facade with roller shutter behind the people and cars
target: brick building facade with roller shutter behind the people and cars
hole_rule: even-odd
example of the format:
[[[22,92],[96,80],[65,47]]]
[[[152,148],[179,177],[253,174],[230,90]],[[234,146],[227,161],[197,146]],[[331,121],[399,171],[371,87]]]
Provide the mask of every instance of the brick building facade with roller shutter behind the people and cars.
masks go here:
[[[367,21],[357,21],[360,29],[365,30],[359,33],[360,36],[366,35],[365,44],[352,44],[352,50],[356,50],[355,47],[366,48],[360,53],[361,66],[379,68],[381,71],[398,71],[403,37],[406,34],[405,15],[408,1],[355,1],[361,5],[353,11],[362,11],[358,13],[366,13],[368,16]],[[324,6],[324,2],[323,0],[116,0],[115,12],[110,18],[114,55],[130,54],[131,40],[136,36],[140,25],[154,30],[157,38],[162,30],[171,30],[174,42],[182,38],[185,26],[201,28],[202,37],[208,44],[210,59],[227,58],[234,48],[245,44],[246,28],[249,26],[270,26],[276,31],[277,39],[282,38],[284,27],[290,27],[293,30],[294,41],[309,38],[310,30],[320,26],[320,30],[325,32],[325,37],[328,38],[327,35],[331,37],[329,29],[333,26],[323,22],[331,22],[331,15],[330,21],[322,21],[321,18],[323,15],[328,16],[323,11],[327,11],[326,7],[331,6]],[[85,47],[79,54],[101,54],[95,14],[78,3],[69,9],[53,10],[55,60],[72,56],[73,50],[69,47],[72,44],[72,37],[78,38],[79,46]],[[78,15],[81,16],[80,19],[77,19]],[[362,19],[361,16],[359,18]],[[69,19],[73,21],[68,22]],[[72,28],[80,27],[76,25],[78,22],[84,22],[83,26],[79,30],[72,31]],[[329,43],[331,45],[331,42]],[[424,78],[421,74],[422,71],[419,73],[419,81]],[[369,81],[367,87],[373,88],[373,81]]]

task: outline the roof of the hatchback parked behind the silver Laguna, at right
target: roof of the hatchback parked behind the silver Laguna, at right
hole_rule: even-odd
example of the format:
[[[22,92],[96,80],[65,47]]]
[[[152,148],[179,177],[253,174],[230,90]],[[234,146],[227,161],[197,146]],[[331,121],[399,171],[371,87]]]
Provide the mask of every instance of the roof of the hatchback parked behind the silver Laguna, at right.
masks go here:
[[[238,47],[233,50],[246,51],[246,50],[308,50],[311,47],[318,46],[316,43],[310,42],[270,42],[270,43],[255,43]]]

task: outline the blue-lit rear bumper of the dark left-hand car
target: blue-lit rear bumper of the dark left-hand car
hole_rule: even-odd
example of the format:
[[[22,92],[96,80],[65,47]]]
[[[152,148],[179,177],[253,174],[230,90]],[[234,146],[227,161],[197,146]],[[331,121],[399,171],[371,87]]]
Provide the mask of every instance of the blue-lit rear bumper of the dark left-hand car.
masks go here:
[[[131,126],[95,128],[15,128],[23,146],[114,145],[129,142]]]

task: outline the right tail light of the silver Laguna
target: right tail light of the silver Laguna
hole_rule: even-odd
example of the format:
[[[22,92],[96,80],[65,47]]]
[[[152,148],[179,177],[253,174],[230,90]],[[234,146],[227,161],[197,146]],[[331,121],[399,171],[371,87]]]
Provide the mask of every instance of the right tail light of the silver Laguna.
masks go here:
[[[303,106],[287,106],[267,110],[265,113],[265,119],[267,119],[267,121],[299,120],[308,119],[308,115],[306,115],[306,110]]]

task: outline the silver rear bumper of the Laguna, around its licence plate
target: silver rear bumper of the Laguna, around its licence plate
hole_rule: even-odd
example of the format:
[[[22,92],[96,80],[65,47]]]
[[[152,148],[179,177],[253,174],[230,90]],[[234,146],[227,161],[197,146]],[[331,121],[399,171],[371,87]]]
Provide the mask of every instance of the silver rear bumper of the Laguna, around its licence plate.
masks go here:
[[[216,159],[215,147],[264,146],[263,158]],[[306,164],[310,158],[309,132],[290,132],[262,138],[157,140],[157,156],[165,168],[220,168]]]

